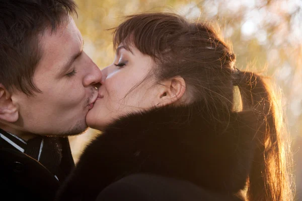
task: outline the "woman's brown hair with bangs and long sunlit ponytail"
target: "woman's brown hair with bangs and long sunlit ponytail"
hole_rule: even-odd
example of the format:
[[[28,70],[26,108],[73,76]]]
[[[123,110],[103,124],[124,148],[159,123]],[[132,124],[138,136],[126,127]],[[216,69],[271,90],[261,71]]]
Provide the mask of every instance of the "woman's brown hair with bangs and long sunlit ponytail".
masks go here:
[[[152,57],[156,65],[150,73],[159,81],[184,78],[190,101],[202,100],[213,120],[219,120],[221,111],[234,112],[234,86],[238,86],[243,104],[239,114],[251,111],[263,117],[259,122],[250,115],[248,126],[254,126],[258,146],[246,197],[249,201],[292,200],[288,133],[280,129],[282,108],[261,76],[236,70],[231,46],[212,27],[171,13],[138,14],[127,16],[115,29],[113,43],[115,48],[121,43],[129,49],[134,46]]]

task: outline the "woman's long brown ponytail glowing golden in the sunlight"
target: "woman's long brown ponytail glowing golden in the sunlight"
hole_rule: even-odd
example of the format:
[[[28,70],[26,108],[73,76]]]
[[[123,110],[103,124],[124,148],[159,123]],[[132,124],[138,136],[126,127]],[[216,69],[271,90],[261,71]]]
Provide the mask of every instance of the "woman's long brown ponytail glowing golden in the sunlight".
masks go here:
[[[261,114],[262,129],[257,134],[252,170],[249,174],[247,198],[249,201],[292,200],[290,180],[286,172],[286,160],[290,152],[281,139],[280,122],[272,91],[261,76],[251,72],[236,71],[237,85],[242,98],[243,111],[253,110]],[[287,152],[287,153],[286,153]],[[290,156],[290,155],[289,155]]]

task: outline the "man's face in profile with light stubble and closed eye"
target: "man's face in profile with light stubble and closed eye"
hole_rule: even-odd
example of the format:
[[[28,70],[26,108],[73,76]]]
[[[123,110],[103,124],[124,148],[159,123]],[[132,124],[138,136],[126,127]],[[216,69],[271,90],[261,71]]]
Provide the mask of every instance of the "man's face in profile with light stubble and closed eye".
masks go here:
[[[101,71],[83,51],[80,31],[70,19],[65,26],[40,36],[42,57],[34,83],[42,91],[12,95],[19,106],[17,129],[38,135],[75,135],[87,129],[85,117],[98,93]]]

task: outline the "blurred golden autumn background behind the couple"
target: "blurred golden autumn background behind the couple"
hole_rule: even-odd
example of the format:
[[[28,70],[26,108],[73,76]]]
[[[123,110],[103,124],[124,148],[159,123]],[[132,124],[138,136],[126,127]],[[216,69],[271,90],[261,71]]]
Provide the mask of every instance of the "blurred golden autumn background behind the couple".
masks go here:
[[[302,0],[75,0],[75,18],[85,51],[100,69],[114,58],[112,31],[125,15],[175,12],[188,19],[218,24],[233,43],[237,68],[250,64],[282,89],[294,153],[296,197],[302,200]],[[138,25],[139,26],[139,25]],[[71,137],[75,162],[97,130]]]

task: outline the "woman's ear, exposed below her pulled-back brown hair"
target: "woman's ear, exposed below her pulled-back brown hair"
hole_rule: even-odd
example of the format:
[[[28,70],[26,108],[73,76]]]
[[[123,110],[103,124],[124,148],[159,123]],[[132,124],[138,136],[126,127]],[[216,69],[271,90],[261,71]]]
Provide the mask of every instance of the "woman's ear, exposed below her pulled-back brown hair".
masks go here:
[[[156,106],[164,106],[176,103],[186,91],[186,82],[180,77],[170,78],[160,83],[158,91],[158,103]]]

